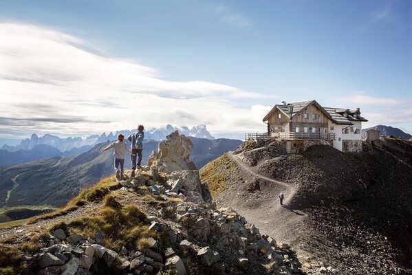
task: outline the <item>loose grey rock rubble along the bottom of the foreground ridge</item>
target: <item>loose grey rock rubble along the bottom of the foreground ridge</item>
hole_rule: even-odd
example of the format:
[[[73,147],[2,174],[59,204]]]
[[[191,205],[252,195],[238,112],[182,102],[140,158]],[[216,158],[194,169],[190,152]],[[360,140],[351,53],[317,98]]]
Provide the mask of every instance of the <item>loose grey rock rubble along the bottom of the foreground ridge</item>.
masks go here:
[[[296,253],[246,221],[232,208],[176,203],[166,217],[147,217],[144,223],[167,248],[149,238],[142,250],[110,250],[83,234],[50,234],[47,246],[32,256],[36,274],[188,274],[188,262],[200,274],[301,274]],[[63,239],[63,236],[67,235]],[[151,239],[151,240],[150,240]],[[283,272],[283,273],[282,273]]]

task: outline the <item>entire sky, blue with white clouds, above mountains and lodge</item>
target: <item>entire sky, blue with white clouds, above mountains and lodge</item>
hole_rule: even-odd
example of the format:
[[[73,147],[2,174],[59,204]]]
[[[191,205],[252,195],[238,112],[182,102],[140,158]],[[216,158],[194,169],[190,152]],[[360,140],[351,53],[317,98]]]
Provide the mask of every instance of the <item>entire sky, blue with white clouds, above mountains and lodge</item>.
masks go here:
[[[0,138],[241,138],[312,99],[412,133],[411,48],[411,1],[0,0]]]

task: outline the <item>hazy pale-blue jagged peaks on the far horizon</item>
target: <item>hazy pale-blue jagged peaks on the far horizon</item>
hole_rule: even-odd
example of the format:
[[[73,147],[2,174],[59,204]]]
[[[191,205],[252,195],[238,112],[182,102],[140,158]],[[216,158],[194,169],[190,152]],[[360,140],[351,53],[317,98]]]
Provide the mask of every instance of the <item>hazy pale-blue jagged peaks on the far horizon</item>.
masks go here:
[[[63,155],[67,155],[70,150],[73,148],[82,148],[85,147],[83,151],[87,151],[91,146],[94,146],[101,142],[106,142],[107,140],[116,140],[118,133],[123,133],[126,137],[131,133],[135,132],[136,130],[122,130],[116,131],[115,133],[102,133],[101,135],[89,135],[86,139],[82,139],[81,137],[66,137],[61,138],[56,135],[43,135],[43,137],[39,137],[35,133],[29,138],[22,140],[19,145],[17,146],[8,146],[3,145],[1,148],[2,150],[6,150],[9,152],[19,151],[19,150],[32,150],[34,147],[38,145],[48,145],[54,148],[57,148],[59,151],[62,152]],[[171,124],[167,124],[164,127],[160,128],[150,128],[144,131],[144,139],[145,140],[165,140],[166,135],[174,131],[179,131],[180,134],[186,135],[187,137],[199,137],[199,138],[206,138],[208,140],[215,140],[215,137],[210,135],[208,130],[206,129],[206,125],[197,125],[193,126],[192,129],[188,129],[186,126],[175,127]]]

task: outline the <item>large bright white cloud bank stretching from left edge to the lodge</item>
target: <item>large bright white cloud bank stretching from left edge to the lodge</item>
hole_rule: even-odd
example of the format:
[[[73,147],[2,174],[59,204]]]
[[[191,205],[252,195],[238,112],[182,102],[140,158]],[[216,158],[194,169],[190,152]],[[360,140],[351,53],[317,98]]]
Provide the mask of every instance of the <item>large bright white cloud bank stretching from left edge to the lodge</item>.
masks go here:
[[[261,94],[164,80],[157,69],[87,48],[67,34],[0,23],[0,135],[89,135],[140,123],[206,124],[213,133],[264,131],[265,107],[241,107],[245,98]]]

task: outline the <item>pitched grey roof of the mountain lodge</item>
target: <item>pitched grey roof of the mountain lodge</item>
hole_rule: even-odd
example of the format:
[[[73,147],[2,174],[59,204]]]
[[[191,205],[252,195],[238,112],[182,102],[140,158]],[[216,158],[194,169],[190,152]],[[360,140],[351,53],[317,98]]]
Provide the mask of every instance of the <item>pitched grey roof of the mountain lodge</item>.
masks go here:
[[[282,113],[284,113],[286,116],[290,117],[290,111],[289,107],[292,105],[293,106],[293,111],[292,111],[292,118],[300,113],[303,109],[307,108],[310,104],[316,104],[316,107],[321,109],[327,117],[335,122],[336,124],[347,124],[347,125],[352,125],[352,121],[367,121],[367,119],[363,118],[360,116],[360,111],[359,109],[356,110],[349,110],[349,109],[342,109],[342,108],[330,108],[330,107],[322,107],[316,100],[307,100],[307,101],[301,101],[301,102],[292,102],[288,104],[276,104],[270,110],[270,112],[265,115],[265,118],[263,118],[263,122],[267,121],[270,118],[270,115],[274,113],[276,109],[279,109]]]

